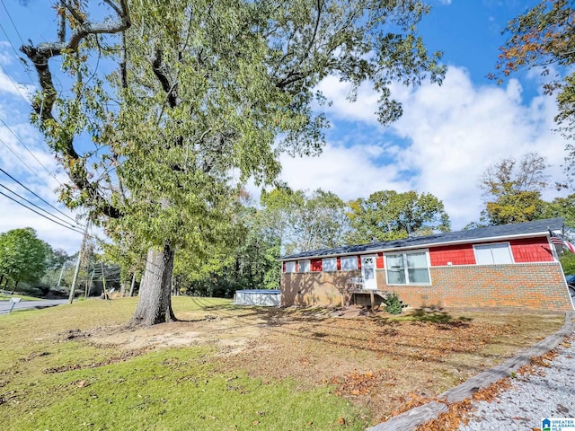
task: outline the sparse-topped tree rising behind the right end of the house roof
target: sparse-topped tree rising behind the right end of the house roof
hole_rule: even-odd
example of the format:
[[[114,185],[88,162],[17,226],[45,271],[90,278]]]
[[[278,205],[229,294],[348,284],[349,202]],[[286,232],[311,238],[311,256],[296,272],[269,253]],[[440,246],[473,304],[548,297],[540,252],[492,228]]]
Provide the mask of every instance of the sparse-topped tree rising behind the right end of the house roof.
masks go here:
[[[517,162],[513,157],[493,163],[483,173],[480,188],[485,198],[481,222],[485,225],[522,223],[544,218],[541,198],[547,187],[545,158],[528,153]]]

